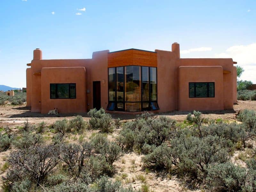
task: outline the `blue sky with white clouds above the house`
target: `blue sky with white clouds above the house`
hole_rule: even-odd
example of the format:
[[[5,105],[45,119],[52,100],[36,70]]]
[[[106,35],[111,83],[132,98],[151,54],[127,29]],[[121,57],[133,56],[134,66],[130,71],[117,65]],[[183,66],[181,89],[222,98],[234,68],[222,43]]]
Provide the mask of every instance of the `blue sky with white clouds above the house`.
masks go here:
[[[231,57],[256,83],[255,0],[1,0],[0,18],[0,84],[26,87],[35,48],[43,59],[86,59],[173,42],[182,58]]]

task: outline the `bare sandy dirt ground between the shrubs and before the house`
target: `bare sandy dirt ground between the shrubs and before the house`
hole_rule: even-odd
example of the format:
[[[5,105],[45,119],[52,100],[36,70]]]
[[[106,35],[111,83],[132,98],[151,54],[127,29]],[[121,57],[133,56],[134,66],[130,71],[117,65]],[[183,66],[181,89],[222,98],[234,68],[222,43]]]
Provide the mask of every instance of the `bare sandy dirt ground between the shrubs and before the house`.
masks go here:
[[[237,104],[234,105],[234,110],[220,110],[220,111],[201,111],[205,118],[209,119],[223,119],[223,120],[232,120],[235,119],[235,116],[239,110],[243,109],[254,109],[256,110],[256,101],[241,101],[238,100]],[[187,114],[191,111],[172,111],[167,113],[156,113],[156,115],[165,115],[172,119],[176,119],[179,122],[184,121],[186,119]],[[38,124],[42,121],[46,122],[47,125],[53,124],[55,121],[60,120],[62,118],[71,119],[74,116],[81,115],[84,117],[84,120],[88,121],[89,117],[86,113],[76,113],[76,114],[59,114],[59,115],[45,115],[41,113],[31,113],[30,109],[26,106],[4,106],[0,107],[0,128],[8,126],[12,129],[12,131],[18,131],[16,126],[23,125],[25,121],[28,120],[31,124]],[[132,120],[136,116],[135,115],[117,115],[113,114],[113,118],[120,118],[123,121]],[[90,138],[93,132],[98,131],[86,131],[83,133],[85,138]],[[118,130],[114,130],[112,134],[108,135],[110,140],[113,140],[114,137],[117,135]],[[45,133],[45,138],[49,138],[50,141],[50,133]],[[67,134],[66,139],[70,142],[77,142],[79,138],[79,134]],[[255,140],[253,141],[255,144]],[[0,167],[6,161],[6,158],[10,154],[11,150],[7,150],[5,152],[0,153]],[[235,153],[235,156],[239,155],[239,151]],[[192,191],[188,189],[180,180],[178,180],[175,176],[161,176],[157,172],[147,172],[142,168],[141,157],[143,155],[138,155],[134,152],[126,153],[124,156],[121,157],[117,162],[114,163],[116,166],[116,174],[114,175],[114,179],[122,180],[123,184],[129,186],[132,184],[134,189],[139,189],[141,184],[143,183],[140,179],[136,178],[139,175],[143,175],[146,177],[146,182],[150,185],[150,188],[155,192],[179,192],[179,191]],[[239,160],[235,160],[239,163]],[[241,162],[242,164],[243,162]],[[0,178],[4,176],[5,173],[0,171]],[[0,186],[1,186],[1,179],[0,179]],[[0,189],[1,191],[1,189]],[[201,191],[201,190],[197,190]]]

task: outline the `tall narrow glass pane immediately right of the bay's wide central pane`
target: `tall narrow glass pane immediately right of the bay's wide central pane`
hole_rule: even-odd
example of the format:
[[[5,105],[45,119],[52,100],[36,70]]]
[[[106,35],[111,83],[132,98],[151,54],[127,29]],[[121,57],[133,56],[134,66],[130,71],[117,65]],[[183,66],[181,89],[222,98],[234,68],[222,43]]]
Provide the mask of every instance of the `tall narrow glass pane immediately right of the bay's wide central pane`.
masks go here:
[[[142,101],[149,101],[149,71],[148,70],[149,70],[148,67],[142,67]]]

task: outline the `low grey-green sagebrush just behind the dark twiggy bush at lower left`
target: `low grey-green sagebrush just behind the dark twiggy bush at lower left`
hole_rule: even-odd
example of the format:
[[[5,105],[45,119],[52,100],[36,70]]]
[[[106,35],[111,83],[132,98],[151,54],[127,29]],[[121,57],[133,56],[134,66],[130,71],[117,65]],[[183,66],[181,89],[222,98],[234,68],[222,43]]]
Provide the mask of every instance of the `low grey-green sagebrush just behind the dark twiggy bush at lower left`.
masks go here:
[[[38,146],[43,143],[41,134],[23,132],[22,137],[12,141],[12,144],[21,150],[27,150],[31,146]]]

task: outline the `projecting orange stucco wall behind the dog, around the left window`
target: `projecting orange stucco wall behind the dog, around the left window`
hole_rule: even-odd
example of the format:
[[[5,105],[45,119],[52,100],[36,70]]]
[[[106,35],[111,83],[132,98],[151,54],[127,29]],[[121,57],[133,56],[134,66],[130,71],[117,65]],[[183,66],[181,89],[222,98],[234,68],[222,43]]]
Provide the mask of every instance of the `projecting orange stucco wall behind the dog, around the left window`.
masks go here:
[[[86,75],[84,67],[42,68],[41,113],[58,108],[60,113],[87,112]],[[75,83],[76,99],[50,99],[51,83]]]

